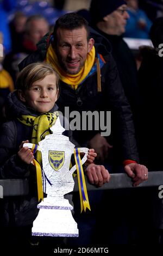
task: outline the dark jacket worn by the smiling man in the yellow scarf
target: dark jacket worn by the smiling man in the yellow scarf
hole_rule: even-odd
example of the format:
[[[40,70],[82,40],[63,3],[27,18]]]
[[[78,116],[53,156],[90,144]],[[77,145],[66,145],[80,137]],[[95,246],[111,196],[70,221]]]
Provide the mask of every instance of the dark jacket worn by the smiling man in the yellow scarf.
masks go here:
[[[77,90],[73,90],[68,84],[60,81],[60,96],[57,104],[62,113],[68,106],[69,112],[78,111],[80,116],[83,111],[97,111],[99,117],[100,111],[111,111],[112,128],[109,140],[113,140],[120,148],[122,161],[127,159],[139,161],[132,114],[124,95],[115,61],[110,53],[110,43],[92,28],[90,32],[91,37],[95,39],[96,57],[99,58],[101,54],[103,59],[100,66],[101,92],[97,89],[97,66],[94,64],[90,74],[79,84]],[[53,35],[44,36],[37,44],[37,51],[20,63],[20,70],[30,63],[44,61],[47,48],[53,40]],[[81,130],[73,131],[73,136],[80,145],[86,146],[96,133],[101,132],[100,125],[98,131],[96,129],[82,131],[82,120],[80,125]]]

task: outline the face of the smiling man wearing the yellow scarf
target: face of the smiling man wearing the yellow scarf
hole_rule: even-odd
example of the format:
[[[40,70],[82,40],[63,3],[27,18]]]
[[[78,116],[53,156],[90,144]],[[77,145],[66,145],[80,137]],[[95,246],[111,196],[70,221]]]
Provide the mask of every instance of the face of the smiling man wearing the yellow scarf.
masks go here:
[[[61,68],[67,74],[76,75],[83,68],[87,53],[92,50],[94,40],[87,41],[84,27],[66,30],[58,28],[56,53]]]

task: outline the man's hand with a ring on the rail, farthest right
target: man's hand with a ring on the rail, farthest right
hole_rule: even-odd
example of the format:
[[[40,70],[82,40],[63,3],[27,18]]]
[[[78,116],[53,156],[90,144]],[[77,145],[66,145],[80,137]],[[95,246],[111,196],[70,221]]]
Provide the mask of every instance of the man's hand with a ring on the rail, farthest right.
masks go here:
[[[129,163],[124,167],[124,170],[132,178],[134,187],[148,179],[148,169],[142,164]]]

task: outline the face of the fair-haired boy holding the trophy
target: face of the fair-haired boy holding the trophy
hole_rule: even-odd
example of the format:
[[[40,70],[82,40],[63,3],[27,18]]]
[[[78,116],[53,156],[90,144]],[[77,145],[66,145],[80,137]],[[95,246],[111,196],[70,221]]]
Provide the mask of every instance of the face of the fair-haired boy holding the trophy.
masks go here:
[[[47,75],[42,80],[35,81],[30,89],[24,93],[20,91],[19,96],[23,102],[36,109],[37,112],[49,112],[58,99],[55,75]]]

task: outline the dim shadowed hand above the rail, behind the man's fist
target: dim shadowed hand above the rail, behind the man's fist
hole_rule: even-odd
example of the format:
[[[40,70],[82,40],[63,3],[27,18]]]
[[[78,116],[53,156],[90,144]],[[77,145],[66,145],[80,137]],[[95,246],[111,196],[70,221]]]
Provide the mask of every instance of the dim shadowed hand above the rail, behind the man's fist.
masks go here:
[[[109,149],[111,149],[112,146],[99,133],[97,133],[90,140],[89,144],[91,148],[95,149],[95,152],[97,153],[97,159],[104,162],[105,159],[107,159],[109,155]]]

